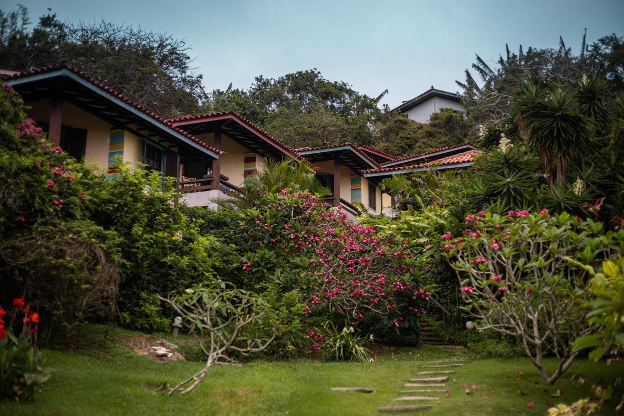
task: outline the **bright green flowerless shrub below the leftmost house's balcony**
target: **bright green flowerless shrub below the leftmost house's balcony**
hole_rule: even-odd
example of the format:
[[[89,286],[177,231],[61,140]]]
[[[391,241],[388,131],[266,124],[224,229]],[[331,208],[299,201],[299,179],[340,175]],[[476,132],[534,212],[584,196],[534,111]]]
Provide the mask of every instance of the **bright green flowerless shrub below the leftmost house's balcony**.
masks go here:
[[[188,208],[180,209],[182,196],[174,182],[124,164],[112,179],[95,176],[93,181],[91,218],[120,237],[122,322],[139,329],[170,327],[156,294],[236,274],[238,255],[217,237],[200,234],[203,220],[183,214]]]

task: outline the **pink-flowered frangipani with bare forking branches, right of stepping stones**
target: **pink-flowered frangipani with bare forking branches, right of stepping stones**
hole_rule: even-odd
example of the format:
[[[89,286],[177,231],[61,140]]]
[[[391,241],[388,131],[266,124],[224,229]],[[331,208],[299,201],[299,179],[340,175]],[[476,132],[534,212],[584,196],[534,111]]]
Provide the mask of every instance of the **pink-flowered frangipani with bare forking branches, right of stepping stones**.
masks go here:
[[[622,252],[624,231],[565,212],[469,215],[464,237],[451,240],[447,256],[457,270],[466,310],[481,329],[513,335],[552,384],[580,354],[572,344],[597,329],[588,324],[592,299],[588,267],[600,267],[612,248]],[[614,251],[615,253],[615,251]],[[544,354],[558,359],[547,375]]]

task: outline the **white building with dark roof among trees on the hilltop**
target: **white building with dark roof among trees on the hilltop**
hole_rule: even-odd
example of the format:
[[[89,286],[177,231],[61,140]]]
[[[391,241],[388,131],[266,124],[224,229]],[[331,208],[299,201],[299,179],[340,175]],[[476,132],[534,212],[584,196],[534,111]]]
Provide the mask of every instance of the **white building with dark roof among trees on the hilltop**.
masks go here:
[[[429,91],[423,92],[421,95],[396,107],[407,114],[410,120],[420,123],[429,122],[429,117],[442,108],[451,108],[454,112],[464,112],[464,105],[459,94],[453,92],[442,91],[431,86]]]

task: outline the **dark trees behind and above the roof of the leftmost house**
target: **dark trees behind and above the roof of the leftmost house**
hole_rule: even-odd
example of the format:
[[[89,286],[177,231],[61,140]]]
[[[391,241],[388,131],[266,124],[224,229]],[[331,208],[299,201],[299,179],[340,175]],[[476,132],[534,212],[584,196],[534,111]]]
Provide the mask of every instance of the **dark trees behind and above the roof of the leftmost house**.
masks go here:
[[[3,66],[32,69],[66,61],[163,117],[197,113],[207,102],[189,49],[170,34],[140,27],[62,21],[56,13],[31,25],[24,6],[0,10]]]

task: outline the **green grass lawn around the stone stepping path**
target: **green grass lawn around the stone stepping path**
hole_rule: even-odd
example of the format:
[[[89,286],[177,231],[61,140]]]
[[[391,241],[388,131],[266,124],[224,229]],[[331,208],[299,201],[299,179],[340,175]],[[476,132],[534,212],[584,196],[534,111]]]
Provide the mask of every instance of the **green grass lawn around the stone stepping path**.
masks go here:
[[[1,403],[0,415],[371,415],[378,414],[379,407],[412,404],[393,400],[399,395],[397,390],[406,389],[402,387],[406,380],[417,371],[428,370],[421,369],[427,361],[457,355],[422,347],[382,350],[373,364],[300,359],[251,362],[244,367],[219,365],[190,395],[168,397],[151,390],[165,381],[174,384],[185,379],[202,364],[154,362],[112,343],[70,352],[46,350],[51,379],[37,392],[34,402]],[[594,384],[614,385],[623,369],[622,365],[607,367],[578,360],[556,385],[544,386],[527,359],[469,359],[450,375],[449,398],[440,393],[440,403],[433,401],[433,408],[425,413],[544,415],[552,404],[588,397]],[[572,375],[577,376],[575,380],[570,380]],[[578,376],[585,379],[583,384],[577,382]],[[470,390],[472,385],[478,389],[467,395],[463,383]],[[331,392],[330,387],[369,387],[375,392]],[[615,413],[623,387],[614,386],[614,399],[604,405],[601,414]],[[551,397],[558,389],[561,397]],[[534,407],[527,407],[529,402]]]

